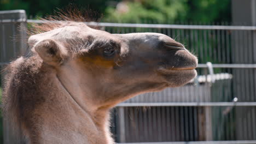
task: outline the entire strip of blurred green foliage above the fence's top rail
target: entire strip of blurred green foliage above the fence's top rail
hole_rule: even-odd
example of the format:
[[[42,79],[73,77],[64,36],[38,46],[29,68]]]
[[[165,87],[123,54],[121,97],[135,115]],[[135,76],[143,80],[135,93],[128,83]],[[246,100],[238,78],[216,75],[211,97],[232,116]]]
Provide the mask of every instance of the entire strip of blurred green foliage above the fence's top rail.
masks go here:
[[[125,5],[121,12],[117,9],[120,2]],[[0,10],[25,9],[31,19],[53,14],[56,8],[69,4],[94,11],[96,20],[103,15],[103,21],[108,22],[231,21],[231,0],[0,0]]]

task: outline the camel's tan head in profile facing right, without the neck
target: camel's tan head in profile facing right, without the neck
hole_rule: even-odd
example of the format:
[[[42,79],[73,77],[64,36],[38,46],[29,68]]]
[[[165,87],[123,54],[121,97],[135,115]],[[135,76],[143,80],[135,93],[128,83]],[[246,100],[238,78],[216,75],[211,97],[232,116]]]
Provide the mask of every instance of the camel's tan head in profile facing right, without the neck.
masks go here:
[[[110,34],[67,22],[28,43],[69,94],[94,109],[179,87],[196,76],[197,58],[159,33]]]

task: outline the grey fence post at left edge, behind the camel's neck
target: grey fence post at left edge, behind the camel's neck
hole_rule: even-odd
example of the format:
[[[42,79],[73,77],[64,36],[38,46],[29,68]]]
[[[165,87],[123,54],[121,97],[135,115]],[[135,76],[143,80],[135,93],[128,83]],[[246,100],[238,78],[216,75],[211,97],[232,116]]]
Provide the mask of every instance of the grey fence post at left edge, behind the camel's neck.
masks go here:
[[[0,11],[0,68],[25,54],[27,49],[26,20],[25,10]],[[12,132],[8,119],[3,118],[4,144],[19,141],[19,138]]]

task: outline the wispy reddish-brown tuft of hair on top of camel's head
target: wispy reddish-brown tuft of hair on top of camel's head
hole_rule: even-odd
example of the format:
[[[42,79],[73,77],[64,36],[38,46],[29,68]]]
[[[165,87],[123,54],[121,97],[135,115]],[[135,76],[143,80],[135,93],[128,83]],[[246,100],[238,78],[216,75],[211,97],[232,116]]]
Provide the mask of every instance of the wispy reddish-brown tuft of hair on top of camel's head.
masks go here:
[[[51,31],[55,28],[60,28],[68,25],[71,22],[98,22],[102,19],[103,15],[98,14],[91,9],[82,9],[77,5],[69,4],[66,8],[54,10],[53,15],[46,15],[39,20],[43,23],[31,23],[28,29],[28,36]],[[90,26],[91,28],[100,29],[98,26]]]

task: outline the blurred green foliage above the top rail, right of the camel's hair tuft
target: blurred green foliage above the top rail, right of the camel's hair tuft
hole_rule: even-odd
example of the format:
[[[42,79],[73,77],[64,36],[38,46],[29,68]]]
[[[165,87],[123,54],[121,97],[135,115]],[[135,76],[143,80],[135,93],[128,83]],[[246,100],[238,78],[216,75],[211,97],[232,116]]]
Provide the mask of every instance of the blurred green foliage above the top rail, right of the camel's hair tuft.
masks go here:
[[[144,0],[123,2],[128,11],[106,8],[106,21],[143,23],[231,21],[230,0]]]

